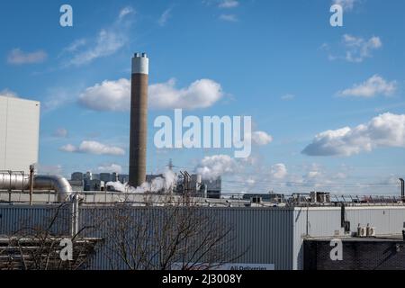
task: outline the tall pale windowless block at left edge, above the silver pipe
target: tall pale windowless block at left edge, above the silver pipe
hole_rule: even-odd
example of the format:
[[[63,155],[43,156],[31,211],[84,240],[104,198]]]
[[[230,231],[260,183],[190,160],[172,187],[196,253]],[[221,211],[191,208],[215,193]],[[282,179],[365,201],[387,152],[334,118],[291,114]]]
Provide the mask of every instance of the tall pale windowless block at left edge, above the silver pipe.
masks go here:
[[[0,170],[23,171],[38,162],[40,103],[0,96]]]

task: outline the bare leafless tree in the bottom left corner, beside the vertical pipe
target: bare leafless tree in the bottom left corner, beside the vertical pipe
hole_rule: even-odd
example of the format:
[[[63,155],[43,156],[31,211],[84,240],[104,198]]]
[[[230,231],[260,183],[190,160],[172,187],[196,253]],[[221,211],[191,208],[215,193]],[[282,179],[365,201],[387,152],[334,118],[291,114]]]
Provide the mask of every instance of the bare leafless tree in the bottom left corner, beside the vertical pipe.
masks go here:
[[[71,216],[64,213],[68,203],[50,210],[49,220],[42,225],[32,225],[16,230],[12,236],[0,240],[0,270],[77,270],[85,268],[94,252],[97,240],[81,238],[87,229],[83,227],[76,235],[69,235]],[[73,259],[62,260],[61,240],[68,238],[73,243]]]

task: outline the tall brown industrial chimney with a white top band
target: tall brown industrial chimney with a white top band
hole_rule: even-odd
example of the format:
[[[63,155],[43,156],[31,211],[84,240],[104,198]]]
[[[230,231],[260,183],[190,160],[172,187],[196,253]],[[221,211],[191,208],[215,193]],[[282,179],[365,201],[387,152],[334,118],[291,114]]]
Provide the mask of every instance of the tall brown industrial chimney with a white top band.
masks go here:
[[[132,58],[130,89],[130,182],[138,187],[146,181],[146,153],[148,137],[148,73],[146,53],[135,53]]]

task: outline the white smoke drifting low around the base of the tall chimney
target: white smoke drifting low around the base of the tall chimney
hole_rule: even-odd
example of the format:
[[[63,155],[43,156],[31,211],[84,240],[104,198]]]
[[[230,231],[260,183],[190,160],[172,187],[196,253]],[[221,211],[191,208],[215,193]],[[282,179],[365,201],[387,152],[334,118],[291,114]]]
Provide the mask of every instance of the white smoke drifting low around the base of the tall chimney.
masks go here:
[[[128,183],[108,182],[107,186],[112,186],[115,191],[122,193],[158,193],[162,190],[167,192],[177,181],[177,176],[171,170],[166,170],[162,177],[156,177],[150,183],[145,182],[139,187],[132,187]]]

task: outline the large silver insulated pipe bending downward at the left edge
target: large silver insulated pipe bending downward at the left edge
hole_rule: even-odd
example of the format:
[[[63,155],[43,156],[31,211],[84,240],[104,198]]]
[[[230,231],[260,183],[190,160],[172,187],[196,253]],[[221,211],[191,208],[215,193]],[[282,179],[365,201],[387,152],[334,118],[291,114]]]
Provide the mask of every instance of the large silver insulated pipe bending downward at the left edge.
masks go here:
[[[0,173],[0,190],[29,190],[30,184],[30,175]],[[59,175],[34,175],[33,189],[55,191],[58,202],[67,201],[73,192],[67,179]]]

